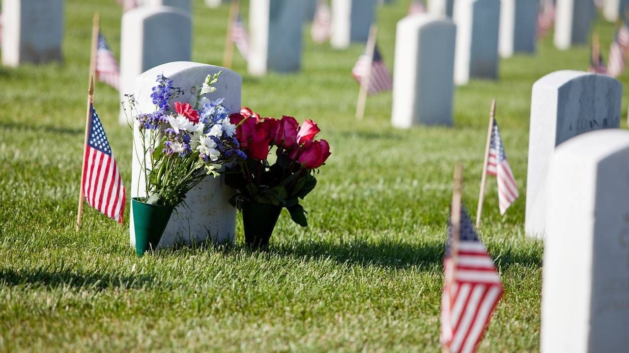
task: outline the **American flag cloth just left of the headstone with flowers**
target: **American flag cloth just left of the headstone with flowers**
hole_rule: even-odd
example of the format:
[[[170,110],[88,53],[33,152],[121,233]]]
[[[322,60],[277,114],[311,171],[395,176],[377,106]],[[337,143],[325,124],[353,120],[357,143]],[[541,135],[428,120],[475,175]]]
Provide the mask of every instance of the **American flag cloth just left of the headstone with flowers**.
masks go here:
[[[98,118],[94,106],[91,110],[92,119],[81,187],[87,204],[122,223],[125,214],[125,185],[111,154],[111,146],[105,136],[101,119]]]

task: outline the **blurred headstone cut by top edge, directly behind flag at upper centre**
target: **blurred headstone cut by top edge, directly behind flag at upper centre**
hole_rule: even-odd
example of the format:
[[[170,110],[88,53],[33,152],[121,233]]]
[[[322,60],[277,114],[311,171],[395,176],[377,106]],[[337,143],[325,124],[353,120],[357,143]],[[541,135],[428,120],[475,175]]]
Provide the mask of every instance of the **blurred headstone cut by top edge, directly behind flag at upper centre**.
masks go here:
[[[331,0],[333,48],[345,49],[351,42],[366,42],[376,16],[376,0]]]

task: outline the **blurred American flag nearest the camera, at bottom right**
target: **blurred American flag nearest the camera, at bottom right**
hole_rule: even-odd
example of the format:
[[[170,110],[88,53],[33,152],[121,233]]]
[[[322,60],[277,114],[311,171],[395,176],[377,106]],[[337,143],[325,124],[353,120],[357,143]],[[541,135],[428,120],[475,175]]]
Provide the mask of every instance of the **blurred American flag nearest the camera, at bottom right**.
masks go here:
[[[476,235],[465,209],[461,209],[456,256],[452,256],[452,237],[450,224],[443,259],[445,285],[440,340],[448,352],[474,352],[504,288],[494,261]]]

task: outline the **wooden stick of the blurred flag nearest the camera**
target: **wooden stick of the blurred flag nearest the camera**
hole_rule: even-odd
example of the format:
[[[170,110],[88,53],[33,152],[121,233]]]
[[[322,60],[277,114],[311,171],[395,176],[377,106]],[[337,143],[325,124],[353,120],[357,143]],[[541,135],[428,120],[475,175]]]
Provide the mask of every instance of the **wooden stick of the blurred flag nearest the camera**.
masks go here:
[[[452,243],[450,244],[450,258],[452,264],[450,266],[450,278],[446,279],[447,283],[450,283],[448,290],[450,290],[450,310],[454,306],[454,293],[452,293],[452,283],[455,279],[455,271],[457,269],[457,261],[459,258],[459,239],[461,233],[461,193],[463,189],[463,165],[457,164],[454,167],[454,183],[452,185],[452,211],[450,214],[450,221],[452,222]],[[450,352],[450,344],[442,346],[442,352]]]

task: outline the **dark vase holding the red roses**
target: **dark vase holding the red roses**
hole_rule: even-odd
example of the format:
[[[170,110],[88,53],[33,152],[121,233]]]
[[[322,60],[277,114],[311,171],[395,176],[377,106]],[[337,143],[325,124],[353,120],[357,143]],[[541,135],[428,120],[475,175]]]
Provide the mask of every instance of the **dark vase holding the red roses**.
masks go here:
[[[269,245],[269,239],[282,212],[282,207],[243,202],[242,223],[245,227],[245,244],[255,249]]]

